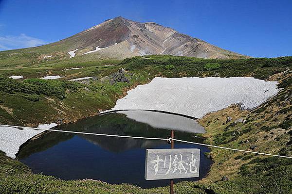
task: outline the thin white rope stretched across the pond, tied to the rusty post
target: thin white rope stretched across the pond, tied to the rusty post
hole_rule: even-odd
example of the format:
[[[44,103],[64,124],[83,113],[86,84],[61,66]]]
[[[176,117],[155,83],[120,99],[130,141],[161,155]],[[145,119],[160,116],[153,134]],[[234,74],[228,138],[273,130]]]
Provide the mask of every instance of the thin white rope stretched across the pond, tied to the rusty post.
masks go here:
[[[179,140],[179,139],[174,139],[174,138],[154,138],[154,137],[137,137],[137,136],[127,136],[127,135],[110,135],[110,134],[103,134],[103,133],[88,133],[88,132],[78,132],[78,131],[69,131],[69,130],[56,130],[56,129],[39,129],[39,128],[31,128],[31,127],[20,127],[20,126],[13,126],[13,125],[1,125],[3,127],[13,127],[13,128],[29,128],[29,129],[38,129],[38,130],[48,130],[48,131],[55,131],[55,132],[65,132],[65,133],[75,133],[75,134],[83,134],[83,135],[98,135],[98,136],[108,136],[108,137],[122,137],[122,138],[133,138],[133,139],[148,139],[148,140],[166,140],[166,141],[177,141],[177,142],[183,142],[187,144],[196,144],[200,146],[209,146],[209,147],[216,147],[216,148],[221,148],[221,149],[228,149],[228,150],[233,150],[233,151],[241,151],[241,152],[247,152],[247,153],[253,153],[253,154],[261,154],[261,155],[267,155],[267,156],[275,156],[275,157],[281,157],[281,158],[290,158],[290,156],[280,156],[280,155],[274,155],[274,154],[267,154],[267,153],[261,153],[261,152],[254,152],[254,151],[248,151],[248,150],[243,150],[243,149],[234,149],[234,148],[229,148],[229,147],[221,147],[221,146],[213,146],[213,145],[208,145],[208,144],[201,144],[197,142],[189,142],[189,141],[184,141],[184,140]]]

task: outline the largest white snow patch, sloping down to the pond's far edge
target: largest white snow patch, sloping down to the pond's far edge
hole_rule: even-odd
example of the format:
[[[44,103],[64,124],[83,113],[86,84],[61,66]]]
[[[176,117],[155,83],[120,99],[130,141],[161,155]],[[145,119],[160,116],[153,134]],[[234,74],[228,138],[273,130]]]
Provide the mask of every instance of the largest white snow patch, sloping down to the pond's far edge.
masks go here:
[[[159,110],[201,118],[231,104],[253,109],[279,92],[277,81],[237,78],[154,78],[118,99],[112,110]]]

